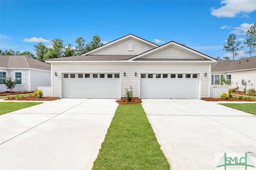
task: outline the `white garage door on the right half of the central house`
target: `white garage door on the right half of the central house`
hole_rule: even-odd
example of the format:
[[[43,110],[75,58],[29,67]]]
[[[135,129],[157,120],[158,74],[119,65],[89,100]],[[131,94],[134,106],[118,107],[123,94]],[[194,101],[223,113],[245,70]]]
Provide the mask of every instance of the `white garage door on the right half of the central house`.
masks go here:
[[[140,74],[140,98],[197,99],[199,74]]]

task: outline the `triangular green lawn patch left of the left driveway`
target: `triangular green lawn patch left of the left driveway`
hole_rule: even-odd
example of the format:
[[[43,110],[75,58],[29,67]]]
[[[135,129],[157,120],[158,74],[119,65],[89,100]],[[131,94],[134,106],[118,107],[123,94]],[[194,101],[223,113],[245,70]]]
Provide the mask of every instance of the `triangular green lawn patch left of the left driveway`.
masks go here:
[[[42,102],[0,102],[0,115],[42,104]]]

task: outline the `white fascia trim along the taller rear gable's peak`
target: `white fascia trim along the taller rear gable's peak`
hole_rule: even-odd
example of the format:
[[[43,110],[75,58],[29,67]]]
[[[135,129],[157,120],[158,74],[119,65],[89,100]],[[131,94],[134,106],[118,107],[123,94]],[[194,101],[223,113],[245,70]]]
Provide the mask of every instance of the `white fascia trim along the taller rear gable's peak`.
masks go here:
[[[93,49],[93,50],[91,50],[91,51],[88,51],[88,52],[86,52],[86,53],[84,53],[84,54],[81,54],[81,55],[90,55],[91,53],[94,53],[94,52],[96,52],[96,51],[100,51],[100,50],[102,50],[102,49],[104,49],[104,48],[106,48],[106,47],[109,47],[109,46],[111,46],[111,45],[113,45],[113,44],[115,44],[115,43],[118,43],[118,42],[121,42],[121,41],[123,41],[123,40],[125,40],[125,39],[127,39],[127,38],[134,38],[134,39],[136,39],[136,40],[138,40],[138,41],[142,41],[143,43],[146,43],[147,45],[151,45],[152,47],[159,47],[158,45],[156,45],[156,44],[154,44],[154,43],[150,43],[149,41],[146,41],[146,40],[144,40],[144,39],[140,39],[139,37],[136,37],[136,36],[134,36],[134,35],[132,35],[132,34],[129,34],[129,35],[126,35],[125,37],[122,37],[122,38],[120,38],[120,39],[116,39],[116,40],[114,40],[114,41],[111,41],[110,43],[107,43],[107,44],[105,44],[105,45],[102,45],[101,47],[98,47],[98,48],[96,48],[96,49]]]

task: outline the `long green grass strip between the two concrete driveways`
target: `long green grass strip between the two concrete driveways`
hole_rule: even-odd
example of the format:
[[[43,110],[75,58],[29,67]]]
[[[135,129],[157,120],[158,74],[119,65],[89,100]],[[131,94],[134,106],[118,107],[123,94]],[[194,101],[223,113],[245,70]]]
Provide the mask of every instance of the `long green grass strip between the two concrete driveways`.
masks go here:
[[[141,104],[119,105],[93,170],[170,170]]]

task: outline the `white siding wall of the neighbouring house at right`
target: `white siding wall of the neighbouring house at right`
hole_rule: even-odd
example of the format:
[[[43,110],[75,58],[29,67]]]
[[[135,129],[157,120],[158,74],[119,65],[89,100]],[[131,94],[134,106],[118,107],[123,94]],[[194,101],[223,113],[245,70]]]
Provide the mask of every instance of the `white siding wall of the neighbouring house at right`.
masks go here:
[[[232,72],[212,72],[211,74],[214,75],[223,75],[225,78],[227,78],[227,75],[231,75],[231,85],[228,86],[229,88],[236,88],[239,87],[239,91],[243,91],[245,88],[245,85],[242,85],[242,80],[247,82],[247,89],[250,88],[250,86],[254,87],[256,86],[256,69],[254,70],[244,70],[244,71],[232,71]],[[250,80],[250,84],[248,83],[248,80]],[[237,86],[236,86],[237,82]],[[252,85],[251,85],[252,84]],[[220,86],[220,85],[211,85],[212,87]]]

